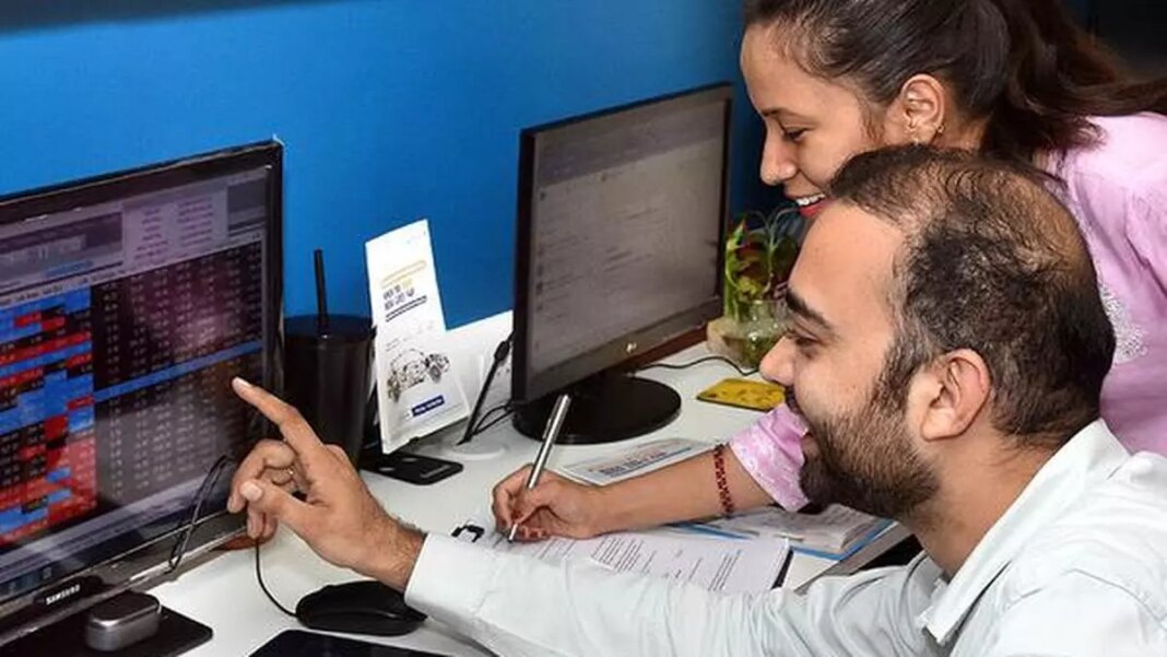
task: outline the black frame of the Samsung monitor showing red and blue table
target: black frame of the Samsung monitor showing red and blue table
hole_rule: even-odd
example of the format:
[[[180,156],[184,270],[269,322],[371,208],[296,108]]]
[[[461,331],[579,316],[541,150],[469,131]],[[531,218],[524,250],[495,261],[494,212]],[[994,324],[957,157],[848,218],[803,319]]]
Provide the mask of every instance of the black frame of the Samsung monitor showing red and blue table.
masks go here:
[[[147,165],[116,173],[0,196],[0,225],[20,223],[118,198],[151,194],[197,183],[212,177],[266,167],[268,217],[265,224],[264,272],[264,385],[281,390],[280,327],[284,314],[284,145],[266,140],[202,153],[189,158]],[[222,477],[230,477],[229,467]],[[84,568],[0,601],[0,645],[36,631],[61,618],[82,611],[117,593],[137,588],[167,574],[172,544],[186,527],[173,517],[152,523],[161,531],[137,545],[117,546],[117,552],[95,560]],[[197,555],[243,533],[244,518],[228,513],[225,506],[203,511],[188,544],[186,564]],[[110,541],[113,543],[113,541]]]

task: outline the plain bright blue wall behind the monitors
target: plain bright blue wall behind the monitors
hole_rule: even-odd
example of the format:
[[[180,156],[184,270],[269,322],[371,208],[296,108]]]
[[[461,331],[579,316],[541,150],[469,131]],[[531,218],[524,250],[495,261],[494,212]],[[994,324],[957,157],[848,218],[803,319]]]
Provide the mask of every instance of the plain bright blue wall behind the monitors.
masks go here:
[[[0,193],[278,135],[287,309],[368,313],[363,244],[427,216],[452,326],[510,307],[525,125],[736,79],[727,0],[0,2]],[[739,103],[736,198],[755,194]],[[745,134],[753,131],[753,134]]]

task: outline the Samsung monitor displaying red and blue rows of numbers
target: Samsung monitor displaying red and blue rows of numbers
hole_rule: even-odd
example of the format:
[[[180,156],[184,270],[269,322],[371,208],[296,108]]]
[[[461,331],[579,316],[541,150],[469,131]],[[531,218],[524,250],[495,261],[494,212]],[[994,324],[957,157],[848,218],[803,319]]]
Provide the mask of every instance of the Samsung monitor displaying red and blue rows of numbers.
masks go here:
[[[281,158],[0,198],[0,645],[161,574],[208,470],[252,445],[229,384],[278,383]],[[230,478],[187,559],[238,536]]]

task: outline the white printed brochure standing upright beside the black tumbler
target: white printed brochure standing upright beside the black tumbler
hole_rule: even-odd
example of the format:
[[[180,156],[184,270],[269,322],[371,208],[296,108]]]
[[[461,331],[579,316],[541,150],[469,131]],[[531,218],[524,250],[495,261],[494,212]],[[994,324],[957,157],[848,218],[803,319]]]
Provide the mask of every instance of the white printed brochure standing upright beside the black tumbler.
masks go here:
[[[450,366],[429,224],[425,219],[365,243],[377,336],[382,450],[467,417]]]

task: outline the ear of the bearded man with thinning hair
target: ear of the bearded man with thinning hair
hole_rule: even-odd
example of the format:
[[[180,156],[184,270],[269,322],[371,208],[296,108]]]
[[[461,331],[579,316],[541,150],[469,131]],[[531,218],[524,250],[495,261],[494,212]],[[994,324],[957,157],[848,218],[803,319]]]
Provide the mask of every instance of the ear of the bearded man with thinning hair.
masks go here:
[[[921,375],[920,435],[924,440],[964,434],[988,406],[992,376],[985,359],[971,349],[944,354]]]

